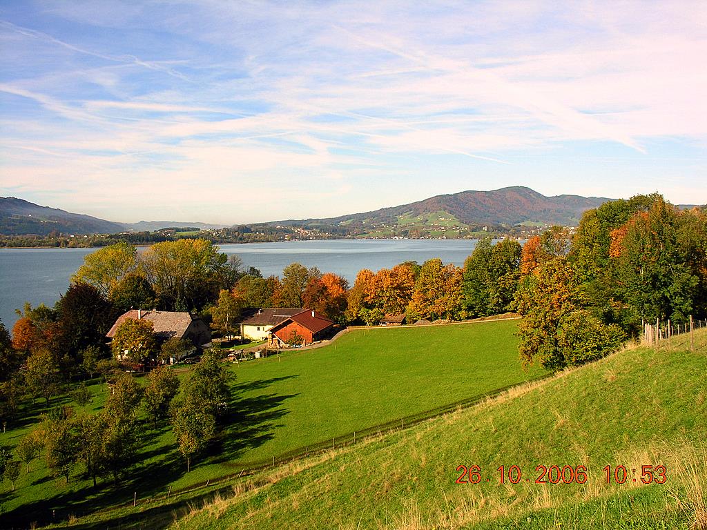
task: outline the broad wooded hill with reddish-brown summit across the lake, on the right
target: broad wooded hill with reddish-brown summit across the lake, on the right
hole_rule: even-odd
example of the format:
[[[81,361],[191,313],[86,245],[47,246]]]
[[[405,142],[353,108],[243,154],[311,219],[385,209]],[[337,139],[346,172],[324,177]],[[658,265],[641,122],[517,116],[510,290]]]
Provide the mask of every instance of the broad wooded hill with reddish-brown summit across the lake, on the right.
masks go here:
[[[460,192],[438,195],[423,201],[403,204],[376,211],[354,213],[327,219],[286,220],[271,224],[332,225],[377,228],[382,225],[405,225],[417,220],[455,221],[460,225],[564,225],[578,224],[582,213],[597,208],[606,201],[603,197],[558,195],[547,197],[522,187],[494,189],[490,192]],[[434,219],[430,219],[430,217]],[[448,224],[448,223],[447,223]]]

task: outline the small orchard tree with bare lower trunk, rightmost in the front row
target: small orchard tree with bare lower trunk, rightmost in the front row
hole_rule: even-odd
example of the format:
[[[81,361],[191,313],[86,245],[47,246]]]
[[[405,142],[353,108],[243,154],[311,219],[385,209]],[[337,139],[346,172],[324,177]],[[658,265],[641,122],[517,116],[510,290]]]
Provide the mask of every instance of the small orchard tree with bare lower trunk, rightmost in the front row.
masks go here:
[[[202,452],[214,437],[216,420],[191,400],[175,402],[171,416],[172,430],[180,453],[187,461],[188,473],[194,455]]]

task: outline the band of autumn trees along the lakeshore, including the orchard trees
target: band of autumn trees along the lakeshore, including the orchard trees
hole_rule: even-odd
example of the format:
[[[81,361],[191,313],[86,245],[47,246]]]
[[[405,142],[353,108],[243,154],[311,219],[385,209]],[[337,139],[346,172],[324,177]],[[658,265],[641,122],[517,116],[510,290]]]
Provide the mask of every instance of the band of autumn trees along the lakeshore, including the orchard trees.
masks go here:
[[[229,259],[206,240],[158,242],[141,254],[128,242],[119,242],[86,256],[54,307],[25,305],[12,337],[0,326],[3,425],[12,424],[27,399],[43,399],[49,410],[50,400],[71,387],[74,401],[85,401],[81,382],[101,374],[115,382],[104,407],[111,417],[103,416],[104,423],[96,429],[127,433],[128,443],[131,421],[141,404],[155,421],[171,418],[188,464],[189,455],[201,450],[198,440],[209,440],[218,430],[222,408],[230,399],[223,397],[228,382],[209,376],[221,381],[220,391],[206,389],[196,380],[182,382],[182,397],[172,404],[171,398],[160,401],[148,393],[154,384],[151,392],[161,389],[166,396],[176,395],[170,370],[156,370],[148,377],[161,374],[164,380],[150,379],[144,391],[135,391],[140,394],[136,404],[125,404],[122,416],[116,413],[115,407],[121,405],[111,404],[115,392],[123,396],[115,398],[119,401],[133,398],[128,379],[115,376],[117,355],[107,348],[105,334],[131,307],[196,312],[224,335],[235,334],[245,307],[310,307],[341,324],[378,324],[386,314],[405,314],[408,322],[415,322],[515,311],[522,316],[522,363],[559,370],[615,351],[626,338],[637,336],[645,321],[671,319],[679,324],[690,315],[707,316],[707,213],[699,208],[680,210],[659,194],[635,196],[585,212],[576,230],[553,227],[524,245],[510,239],[479,240],[461,267],[440,259],[409,261],[375,273],[359,271],[351,286],[335,273],[301,264],[287,266],[281,276],[263,278],[257,269],[245,269],[240,260]],[[151,331],[145,333],[149,337]],[[175,352],[184,347],[178,341],[161,346],[148,338],[139,342],[151,354],[161,348],[165,358],[178,356]],[[125,349],[131,348],[115,347]],[[194,373],[216,370],[216,360],[206,355],[201,362],[205,361]],[[211,399],[208,410],[199,406],[204,399]],[[47,432],[64,432],[70,440],[77,432],[88,436],[82,429],[95,427],[83,425],[80,416],[69,411],[57,410],[42,420],[51,427]],[[119,417],[123,423],[109,423]],[[190,435],[197,427],[204,430]],[[66,440],[56,442],[57,451],[71,447]],[[117,443],[110,437],[100,440],[96,447],[103,447],[103,452]],[[49,449],[45,447],[45,455],[52,453]],[[72,455],[66,457],[72,466],[83,461]],[[12,474],[15,467],[4,469]],[[64,469],[59,464],[54,468]],[[96,471],[97,476],[101,473],[112,473],[110,466]]]

